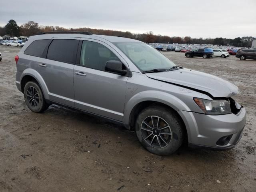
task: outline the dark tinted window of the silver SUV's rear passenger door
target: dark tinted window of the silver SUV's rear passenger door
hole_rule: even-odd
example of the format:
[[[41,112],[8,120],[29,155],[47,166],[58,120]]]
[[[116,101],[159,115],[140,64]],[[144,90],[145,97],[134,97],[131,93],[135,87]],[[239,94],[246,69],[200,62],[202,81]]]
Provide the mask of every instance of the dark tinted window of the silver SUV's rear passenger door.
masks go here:
[[[54,39],[47,52],[47,59],[75,63],[78,40],[75,39]]]

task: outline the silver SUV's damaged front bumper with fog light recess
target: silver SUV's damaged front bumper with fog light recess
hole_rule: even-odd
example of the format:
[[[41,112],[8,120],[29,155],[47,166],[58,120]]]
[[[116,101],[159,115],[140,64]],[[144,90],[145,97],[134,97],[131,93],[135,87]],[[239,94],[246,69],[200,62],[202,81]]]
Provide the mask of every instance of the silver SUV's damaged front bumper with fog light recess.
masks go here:
[[[241,139],[246,124],[246,110],[237,114],[205,115],[178,111],[188,132],[188,145],[193,148],[228,150]]]

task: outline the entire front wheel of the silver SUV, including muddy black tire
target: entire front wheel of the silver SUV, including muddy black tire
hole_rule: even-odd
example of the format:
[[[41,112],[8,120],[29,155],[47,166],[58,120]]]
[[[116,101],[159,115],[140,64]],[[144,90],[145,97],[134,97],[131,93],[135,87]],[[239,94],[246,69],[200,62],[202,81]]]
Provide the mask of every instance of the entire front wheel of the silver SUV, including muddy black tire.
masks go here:
[[[149,152],[157,155],[174,153],[182,145],[182,122],[168,108],[149,106],[140,112],[135,126],[139,142]]]

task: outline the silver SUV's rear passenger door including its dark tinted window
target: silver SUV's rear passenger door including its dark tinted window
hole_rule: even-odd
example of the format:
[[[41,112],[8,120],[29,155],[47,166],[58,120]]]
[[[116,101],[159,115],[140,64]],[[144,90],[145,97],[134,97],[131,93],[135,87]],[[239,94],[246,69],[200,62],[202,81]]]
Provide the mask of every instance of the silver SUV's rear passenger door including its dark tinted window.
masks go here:
[[[80,38],[52,38],[37,70],[44,79],[50,100],[74,107],[73,68]]]

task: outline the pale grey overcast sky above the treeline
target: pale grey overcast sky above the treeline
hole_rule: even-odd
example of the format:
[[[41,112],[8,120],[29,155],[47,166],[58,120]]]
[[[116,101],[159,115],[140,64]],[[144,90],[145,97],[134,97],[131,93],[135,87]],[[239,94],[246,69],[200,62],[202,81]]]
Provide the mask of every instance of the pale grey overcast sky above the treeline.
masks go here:
[[[256,0],[8,0],[0,26],[39,25],[192,38],[256,36]],[[3,4],[2,4],[3,6]]]

